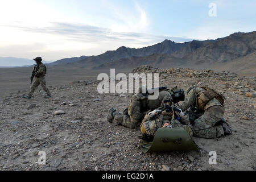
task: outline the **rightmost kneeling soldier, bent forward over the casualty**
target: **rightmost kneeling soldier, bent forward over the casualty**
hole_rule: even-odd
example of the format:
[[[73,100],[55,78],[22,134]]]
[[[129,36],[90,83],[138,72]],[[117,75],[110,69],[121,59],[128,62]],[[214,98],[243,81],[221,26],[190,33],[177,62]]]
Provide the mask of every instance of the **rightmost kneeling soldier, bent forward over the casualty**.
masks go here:
[[[185,111],[189,107],[200,115],[191,121],[195,137],[217,138],[232,133],[228,123],[223,119],[224,97],[220,93],[208,87],[192,86],[188,89],[187,97],[180,109]]]

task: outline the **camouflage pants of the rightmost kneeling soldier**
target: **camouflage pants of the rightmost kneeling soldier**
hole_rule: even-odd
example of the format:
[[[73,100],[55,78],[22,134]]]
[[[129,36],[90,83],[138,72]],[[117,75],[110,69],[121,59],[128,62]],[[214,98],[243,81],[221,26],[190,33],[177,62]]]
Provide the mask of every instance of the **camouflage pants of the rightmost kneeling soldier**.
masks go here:
[[[201,138],[217,138],[224,135],[222,126],[216,126],[216,123],[221,121],[223,115],[223,107],[209,107],[200,118],[195,120],[195,125],[193,126],[194,136]]]

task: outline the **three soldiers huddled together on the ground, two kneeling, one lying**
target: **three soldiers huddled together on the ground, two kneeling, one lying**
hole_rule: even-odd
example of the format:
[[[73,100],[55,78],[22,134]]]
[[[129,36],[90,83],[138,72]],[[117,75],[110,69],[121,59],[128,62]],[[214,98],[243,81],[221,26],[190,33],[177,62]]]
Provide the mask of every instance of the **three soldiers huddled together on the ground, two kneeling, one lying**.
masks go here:
[[[183,127],[192,137],[218,138],[232,134],[224,119],[224,96],[205,86],[191,86],[185,98],[184,90],[159,88],[159,97],[148,100],[149,93],[131,96],[123,113],[110,109],[108,122],[131,129],[140,126],[144,137],[154,137],[161,127]],[[178,102],[183,102],[178,105]],[[186,113],[186,114],[184,114]]]

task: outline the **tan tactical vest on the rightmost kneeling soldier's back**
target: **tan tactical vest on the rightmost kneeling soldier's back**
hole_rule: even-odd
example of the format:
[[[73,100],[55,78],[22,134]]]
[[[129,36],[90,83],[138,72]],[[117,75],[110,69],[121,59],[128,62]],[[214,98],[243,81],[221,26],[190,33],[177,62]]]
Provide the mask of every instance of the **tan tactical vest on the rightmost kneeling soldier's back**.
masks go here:
[[[207,105],[207,103],[213,98],[216,98],[218,101],[220,101],[222,106],[224,105],[225,98],[221,93],[217,93],[216,90],[210,89],[207,86],[202,86],[201,88],[205,89],[206,91],[197,94],[197,106],[200,110],[204,110],[205,105]]]

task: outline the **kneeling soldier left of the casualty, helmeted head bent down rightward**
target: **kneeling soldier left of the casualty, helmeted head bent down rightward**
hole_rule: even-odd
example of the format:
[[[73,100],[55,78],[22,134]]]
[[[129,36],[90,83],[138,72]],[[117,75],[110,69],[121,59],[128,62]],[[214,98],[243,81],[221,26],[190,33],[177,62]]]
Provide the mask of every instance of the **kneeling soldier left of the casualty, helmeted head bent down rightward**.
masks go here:
[[[164,108],[165,105],[171,105],[172,102],[177,103],[179,101],[184,101],[184,91],[183,90],[159,90],[159,96],[156,100],[148,100],[148,94],[134,94],[131,96],[131,102],[123,114],[118,113],[115,109],[110,109],[108,115],[108,122],[129,127],[134,129],[138,124],[142,122],[145,114],[148,110],[155,110],[158,107]]]

